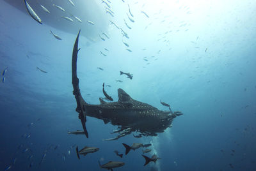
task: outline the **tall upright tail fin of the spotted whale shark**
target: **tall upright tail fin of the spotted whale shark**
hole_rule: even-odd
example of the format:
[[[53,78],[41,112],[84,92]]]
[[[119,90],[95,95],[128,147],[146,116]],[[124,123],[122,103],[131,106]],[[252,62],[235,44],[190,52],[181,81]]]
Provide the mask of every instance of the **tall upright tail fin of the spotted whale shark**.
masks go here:
[[[86,102],[83,100],[83,97],[80,93],[79,79],[77,78],[77,53],[80,49],[80,48],[79,49],[77,48],[79,34],[80,34],[80,30],[79,30],[79,33],[77,34],[76,41],[75,41],[74,48],[73,48],[73,54],[72,54],[72,85],[73,85],[73,89],[74,89],[73,94],[75,95],[76,103],[77,103],[76,111],[79,113],[78,117],[81,120],[84,134],[88,138],[88,131],[86,130],[86,126],[85,126],[86,113],[85,113],[84,105],[86,105]]]

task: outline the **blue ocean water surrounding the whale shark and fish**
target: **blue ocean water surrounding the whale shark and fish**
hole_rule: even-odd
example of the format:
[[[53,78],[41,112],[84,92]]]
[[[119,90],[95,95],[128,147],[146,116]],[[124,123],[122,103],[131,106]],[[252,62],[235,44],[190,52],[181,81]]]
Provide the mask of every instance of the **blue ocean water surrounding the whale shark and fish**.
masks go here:
[[[0,170],[104,169],[98,160],[125,162],[113,170],[256,170],[256,1],[28,1],[42,25],[23,1],[10,2],[0,2]],[[77,76],[84,100],[99,104],[102,82],[111,85],[105,88],[114,101],[118,88],[168,110],[162,100],[184,114],[172,128],[157,137],[131,133],[102,141],[115,137],[117,127],[87,117],[89,138],[68,135],[83,130],[71,77],[79,29]],[[124,153],[122,143],[134,142],[152,144],[145,155],[161,160],[144,167],[141,149],[122,159],[113,152]],[[78,160],[76,146],[100,150]]]

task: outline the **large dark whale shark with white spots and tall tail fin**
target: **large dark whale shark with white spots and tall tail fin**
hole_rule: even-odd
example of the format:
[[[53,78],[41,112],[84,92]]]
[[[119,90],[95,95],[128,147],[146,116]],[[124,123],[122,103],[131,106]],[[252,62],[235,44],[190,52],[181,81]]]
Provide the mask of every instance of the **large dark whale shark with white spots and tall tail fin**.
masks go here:
[[[118,135],[115,138],[106,140],[116,140],[133,131],[138,131],[140,135],[144,136],[156,136],[157,133],[161,133],[171,126],[173,118],[182,115],[181,112],[173,112],[173,114],[170,114],[171,112],[169,111],[164,112],[147,103],[134,100],[122,89],[118,89],[117,102],[107,103],[99,99],[100,105],[86,103],[81,96],[79,79],[77,78],[77,53],[79,51],[77,47],[79,33],[77,34],[72,55],[72,85],[74,88],[73,94],[77,101],[76,111],[79,113],[79,119],[81,119],[86,137],[88,137],[88,131],[85,125],[86,115],[102,119],[105,124],[110,122],[118,126],[118,130],[113,131],[113,133],[118,133]]]

